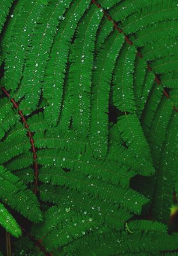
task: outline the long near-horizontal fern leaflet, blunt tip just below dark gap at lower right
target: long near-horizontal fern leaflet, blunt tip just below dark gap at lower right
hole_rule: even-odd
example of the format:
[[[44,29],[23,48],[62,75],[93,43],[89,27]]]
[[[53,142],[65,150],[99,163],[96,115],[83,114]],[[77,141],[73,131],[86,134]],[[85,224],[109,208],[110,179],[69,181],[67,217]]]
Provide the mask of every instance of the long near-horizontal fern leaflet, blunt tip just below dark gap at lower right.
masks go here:
[[[47,168],[46,168],[47,169]],[[148,199],[130,188],[121,188],[111,184],[106,184],[88,175],[78,172],[65,173],[63,170],[49,172],[41,169],[39,179],[45,183],[53,185],[67,186],[77,191],[91,194],[94,198],[99,197],[100,200],[108,200],[109,202],[124,207],[130,212],[140,214],[141,206],[148,202]],[[54,170],[54,169],[53,169]],[[54,175],[54,176],[53,176]]]

